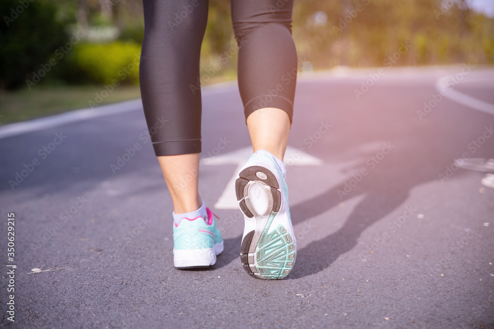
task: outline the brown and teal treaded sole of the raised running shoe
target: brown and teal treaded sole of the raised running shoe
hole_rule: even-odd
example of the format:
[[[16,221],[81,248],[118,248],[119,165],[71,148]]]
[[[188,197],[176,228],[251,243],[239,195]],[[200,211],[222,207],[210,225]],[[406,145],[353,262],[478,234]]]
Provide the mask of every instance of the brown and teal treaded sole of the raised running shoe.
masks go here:
[[[255,229],[246,234],[240,250],[244,269],[258,279],[285,278],[295,263],[296,250],[287,227],[271,227],[282,204],[276,176],[266,167],[250,166],[240,172],[235,189],[240,209],[247,218],[255,219]]]

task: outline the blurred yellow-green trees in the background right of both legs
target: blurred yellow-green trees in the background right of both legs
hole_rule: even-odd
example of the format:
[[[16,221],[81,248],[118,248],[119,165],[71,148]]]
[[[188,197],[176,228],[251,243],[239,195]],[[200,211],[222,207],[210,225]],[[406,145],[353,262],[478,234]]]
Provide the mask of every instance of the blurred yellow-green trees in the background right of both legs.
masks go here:
[[[326,24],[312,24],[318,12]],[[465,0],[298,0],[293,12],[298,55],[317,69],[383,66],[406,42],[393,65],[494,64],[493,24]]]

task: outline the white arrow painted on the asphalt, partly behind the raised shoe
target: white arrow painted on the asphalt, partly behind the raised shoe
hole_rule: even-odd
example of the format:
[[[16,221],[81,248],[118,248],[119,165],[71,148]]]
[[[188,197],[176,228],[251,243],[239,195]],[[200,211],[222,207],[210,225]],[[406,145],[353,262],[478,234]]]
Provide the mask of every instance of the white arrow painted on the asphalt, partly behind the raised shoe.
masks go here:
[[[229,164],[237,165],[237,169],[235,169],[233,177],[230,179],[228,184],[226,184],[225,190],[214,205],[214,208],[239,209],[239,204],[235,193],[235,180],[237,179],[238,172],[245,165],[251,155],[252,147],[247,146],[233,152],[207,158],[207,163],[204,163],[204,165],[207,166],[222,166]],[[287,170],[291,166],[321,166],[323,164],[323,160],[291,146],[287,147],[283,161],[287,166]]]

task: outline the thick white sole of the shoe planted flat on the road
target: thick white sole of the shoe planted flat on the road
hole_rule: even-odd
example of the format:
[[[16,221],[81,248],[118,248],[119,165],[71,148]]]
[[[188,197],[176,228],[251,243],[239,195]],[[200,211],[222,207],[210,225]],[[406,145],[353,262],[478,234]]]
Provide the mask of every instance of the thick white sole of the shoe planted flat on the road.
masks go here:
[[[207,268],[216,263],[216,256],[224,250],[223,241],[213,248],[173,249],[173,265],[178,269]]]

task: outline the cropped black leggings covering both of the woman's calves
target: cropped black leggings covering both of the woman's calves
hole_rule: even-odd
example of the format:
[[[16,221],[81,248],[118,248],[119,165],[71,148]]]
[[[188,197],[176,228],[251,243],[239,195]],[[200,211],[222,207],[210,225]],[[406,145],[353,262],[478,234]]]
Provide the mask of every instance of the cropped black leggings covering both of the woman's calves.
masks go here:
[[[155,153],[199,153],[199,59],[208,0],[143,3],[145,33],[139,81],[146,122],[150,131],[154,127],[151,141]],[[255,110],[279,108],[288,113],[291,123],[297,73],[292,8],[293,0],[231,0],[246,120]]]

